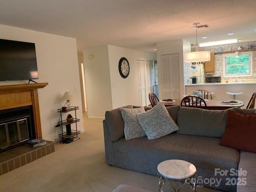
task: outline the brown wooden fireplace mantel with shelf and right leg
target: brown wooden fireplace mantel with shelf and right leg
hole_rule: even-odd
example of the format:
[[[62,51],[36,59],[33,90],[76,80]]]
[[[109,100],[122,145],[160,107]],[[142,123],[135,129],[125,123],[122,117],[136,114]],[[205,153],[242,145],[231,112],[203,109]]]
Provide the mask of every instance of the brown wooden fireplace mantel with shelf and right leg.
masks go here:
[[[42,138],[38,90],[48,83],[0,86],[0,110],[32,106],[36,138]]]

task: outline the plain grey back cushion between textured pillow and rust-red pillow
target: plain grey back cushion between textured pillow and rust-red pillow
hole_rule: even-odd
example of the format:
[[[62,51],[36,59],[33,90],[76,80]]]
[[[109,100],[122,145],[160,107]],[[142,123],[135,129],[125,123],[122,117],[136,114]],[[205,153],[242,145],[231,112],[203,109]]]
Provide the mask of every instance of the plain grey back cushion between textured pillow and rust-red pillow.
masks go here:
[[[221,138],[225,133],[226,118],[227,110],[180,107],[177,133]]]

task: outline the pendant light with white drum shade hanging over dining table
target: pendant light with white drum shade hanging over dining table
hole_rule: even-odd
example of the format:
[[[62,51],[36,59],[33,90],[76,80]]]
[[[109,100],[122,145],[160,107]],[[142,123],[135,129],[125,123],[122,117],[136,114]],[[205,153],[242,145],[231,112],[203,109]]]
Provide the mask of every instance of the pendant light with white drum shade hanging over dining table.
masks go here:
[[[204,64],[205,61],[210,61],[210,51],[198,51],[198,40],[197,40],[197,28],[198,24],[194,23],[194,28],[196,28],[196,51],[185,53],[185,62],[191,62],[192,64]]]

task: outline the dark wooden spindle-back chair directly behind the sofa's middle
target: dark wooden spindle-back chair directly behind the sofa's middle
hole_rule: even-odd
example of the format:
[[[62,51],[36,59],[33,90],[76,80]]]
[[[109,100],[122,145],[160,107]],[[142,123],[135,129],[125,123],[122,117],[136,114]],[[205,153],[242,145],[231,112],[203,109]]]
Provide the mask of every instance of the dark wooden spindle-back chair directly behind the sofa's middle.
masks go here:
[[[189,95],[181,100],[180,106],[202,108],[202,103],[204,104],[203,106],[207,106],[206,102],[202,98],[196,95]]]

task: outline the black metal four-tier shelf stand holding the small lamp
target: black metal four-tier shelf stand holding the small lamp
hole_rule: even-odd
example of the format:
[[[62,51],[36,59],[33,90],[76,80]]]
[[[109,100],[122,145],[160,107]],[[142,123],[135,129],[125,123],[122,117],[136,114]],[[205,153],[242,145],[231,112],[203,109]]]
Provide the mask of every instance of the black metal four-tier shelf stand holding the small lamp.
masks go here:
[[[65,142],[66,139],[68,138],[71,138],[72,139],[72,142],[73,141],[76,141],[78,139],[80,139],[78,137],[78,134],[80,134],[81,132],[77,130],[77,122],[80,121],[80,119],[76,118],[76,110],[78,110],[79,107],[76,107],[76,106],[72,106],[66,110],[62,110],[61,109],[57,109],[57,112],[60,113],[60,121],[58,122],[58,125],[60,125],[60,129],[61,129],[61,134],[59,134],[59,137],[61,138],[61,143],[67,143]],[[74,111],[75,112],[75,118],[74,118],[74,121],[72,122],[67,122],[67,120],[62,120],[62,114],[63,113],[67,113],[67,112],[71,112],[71,111]],[[71,130],[71,134],[67,134],[67,132],[64,132],[63,131],[63,126],[70,126],[71,124],[75,124],[76,125],[76,129],[75,130]]]

